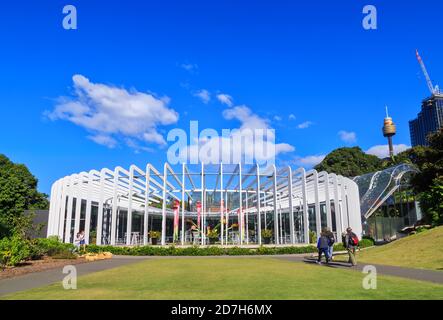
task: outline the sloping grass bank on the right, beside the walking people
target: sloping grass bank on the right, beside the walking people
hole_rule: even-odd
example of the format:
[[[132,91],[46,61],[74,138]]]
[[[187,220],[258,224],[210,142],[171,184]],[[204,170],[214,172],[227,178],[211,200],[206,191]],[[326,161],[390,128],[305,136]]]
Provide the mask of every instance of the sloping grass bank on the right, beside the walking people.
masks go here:
[[[362,250],[357,254],[357,260],[398,267],[443,270],[443,227]]]

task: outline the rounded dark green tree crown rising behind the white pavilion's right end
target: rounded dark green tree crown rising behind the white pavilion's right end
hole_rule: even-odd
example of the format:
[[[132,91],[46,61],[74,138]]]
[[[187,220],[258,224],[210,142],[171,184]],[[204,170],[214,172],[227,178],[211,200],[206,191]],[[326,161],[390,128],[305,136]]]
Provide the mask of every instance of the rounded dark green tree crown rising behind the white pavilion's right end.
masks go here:
[[[332,151],[315,169],[333,172],[345,177],[356,177],[381,170],[382,167],[383,161],[381,159],[364,153],[359,147],[354,147]]]

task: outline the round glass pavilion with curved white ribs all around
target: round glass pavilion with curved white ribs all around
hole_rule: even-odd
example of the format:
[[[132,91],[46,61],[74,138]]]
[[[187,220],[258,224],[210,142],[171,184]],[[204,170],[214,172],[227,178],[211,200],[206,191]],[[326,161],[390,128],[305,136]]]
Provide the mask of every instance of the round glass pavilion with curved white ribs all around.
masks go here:
[[[101,169],[73,174],[51,189],[48,236],[73,242],[147,245],[294,245],[328,227],[362,234],[357,184],[291,167],[183,164],[163,170]],[[271,237],[264,237],[267,230]],[[214,236],[215,234],[215,236]]]

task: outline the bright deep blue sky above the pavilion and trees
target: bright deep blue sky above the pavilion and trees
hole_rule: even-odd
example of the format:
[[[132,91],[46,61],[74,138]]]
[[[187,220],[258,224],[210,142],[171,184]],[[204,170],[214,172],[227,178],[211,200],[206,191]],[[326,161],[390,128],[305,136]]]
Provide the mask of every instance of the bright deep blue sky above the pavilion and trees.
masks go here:
[[[62,28],[66,4],[77,8],[77,30]],[[378,9],[378,30],[362,28],[367,4]],[[435,0],[2,4],[0,153],[28,165],[47,193],[71,173],[166,160],[158,139],[120,127],[106,133],[106,146],[95,139],[103,132],[54,115],[78,99],[74,75],[163,103],[177,118],[160,117],[147,129],[163,137],[191,120],[238,128],[240,118],[225,112],[247,106],[276,130],[277,143],[294,148],[278,156],[282,164],[309,166],[337,147],[386,144],[386,104],[398,127],[395,144],[410,145],[408,121],[429,95],[415,49],[442,83],[442,12]],[[209,101],[197,96],[202,90]],[[219,94],[231,96],[232,106]]]

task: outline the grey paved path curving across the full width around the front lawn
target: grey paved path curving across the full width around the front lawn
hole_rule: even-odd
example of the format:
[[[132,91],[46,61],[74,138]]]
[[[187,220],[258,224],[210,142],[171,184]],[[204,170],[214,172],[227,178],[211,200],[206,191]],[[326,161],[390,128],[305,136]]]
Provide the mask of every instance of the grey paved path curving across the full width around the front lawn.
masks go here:
[[[102,260],[96,262],[89,262],[76,265],[77,275],[82,276],[85,274],[117,268],[123,265],[136,263],[147,259],[206,259],[206,258],[277,258],[294,262],[315,263],[316,259],[313,256],[303,255],[277,255],[277,256],[201,256],[201,257],[132,257],[132,256],[114,256],[110,260]],[[319,266],[324,268],[341,268],[355,271],[362,271],[366,264],[359,264],[355,267],[350,266],[347,263],[333,262],[329,265]],[[428,281],[438,284],[443,284],[443,272],[432,270],[420,270],[401,268],[393,266],[374,265],[377,268],[377,273],[382,275],[402,277],[412,280]],[[2,295],[10,294],[13,292],[29,290],[46,286],[55,282],[63,280],[65,274],[62,272],[63,268],[56,268],[46,270],[42,272],[30,273],[23,276],[0,280],[0,297]]]

